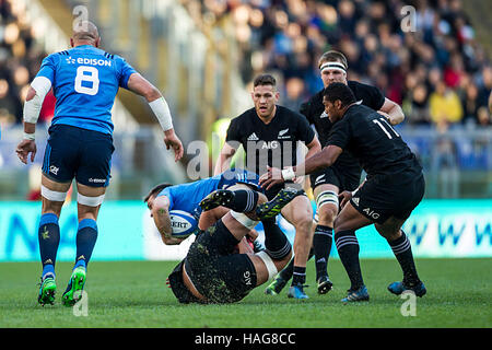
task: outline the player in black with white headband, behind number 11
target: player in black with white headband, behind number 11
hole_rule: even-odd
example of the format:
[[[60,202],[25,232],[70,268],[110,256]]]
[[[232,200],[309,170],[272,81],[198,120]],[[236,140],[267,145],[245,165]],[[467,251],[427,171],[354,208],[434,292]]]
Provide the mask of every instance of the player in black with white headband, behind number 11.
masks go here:
[[[347,80],[348,62],[343,54],[335,50],[327,51],[319,58],[318,66],[325,88],[333,82],[344,83],[352,90],[359,104],[379,110],[379,114],[384,115],[391,125],[397,125],[405,119],[401,107],[385,97],[377,88]],[[309,124],[315,126],[321,147],[326,144],[332,127],[323,105],[323,91],[319,91],[301,106],[301,114],[307,118]],[[359,162],[349,153],[343,152],[332,166],[309,176],[311,187],[316,200],[313,250],[309,257],[313,254],[315,256],[319,294],[329,292],[332,287],[328,277],[327,264],[332,244],[333,222],[339,211],[338,195],[344,190],[352,191],[358,188],[361,172]],[[291,277],[292,262],[267,287],[266,293],[280,293]]]

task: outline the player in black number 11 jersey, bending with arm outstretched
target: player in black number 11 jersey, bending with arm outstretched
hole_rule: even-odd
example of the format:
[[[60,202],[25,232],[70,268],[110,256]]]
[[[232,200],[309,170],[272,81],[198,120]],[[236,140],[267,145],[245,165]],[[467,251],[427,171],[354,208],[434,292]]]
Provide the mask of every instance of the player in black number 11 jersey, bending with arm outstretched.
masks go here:
[[[296,176],[312,174],[331,166],[344,150],[349,151],[367,177],[353,194],[343,191],[340,195],[342,209],[335,220],[335,244],[351,281],[348,296],[342,301],[368,300],[359,264],[355,231],[373,223],[389,243],[403,271],[402,281],[389,284],[388,290],[394,294],[411,290],[423,296],[426,290],[417,273],[410,241],[401,230],[424,195],[422,166],[387,118],[358,104],[347,84],[330,84],[323,98],[325,112],[333,124],[323,151],[292,168],[269,168],[260,177],[260,184],[268,189]]]

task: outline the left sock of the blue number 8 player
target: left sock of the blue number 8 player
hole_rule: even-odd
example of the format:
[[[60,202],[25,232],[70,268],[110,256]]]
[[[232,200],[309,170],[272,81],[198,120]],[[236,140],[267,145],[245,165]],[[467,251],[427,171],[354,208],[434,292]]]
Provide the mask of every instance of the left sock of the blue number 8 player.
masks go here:
[[[54,213],[43,214],[37,231],[39,241],[39,255],[43,264],[43,279],[55,278],[55,262],[57,259],[58,245],[60,244],[60,226],[58,217]]]

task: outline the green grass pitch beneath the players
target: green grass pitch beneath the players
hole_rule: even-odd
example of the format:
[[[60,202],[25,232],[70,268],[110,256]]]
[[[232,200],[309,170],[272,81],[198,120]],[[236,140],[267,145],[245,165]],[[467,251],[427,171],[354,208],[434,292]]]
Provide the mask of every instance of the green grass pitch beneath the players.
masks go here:
[[[61,305],[71,262],[57,264],[57,300],[37,303],[39,262],[0,264],[0,327],[166,327],[166,328],[490,328],[492,259],[417,259],[427,294],[417,298],[414,316],[403,316],[407,300],[387,292],[400,280],[395,259],[361,261],[371,301],[343,305],[349,280],[340,260],[329,262],[333,290],[316,293],[314,264],[308,262],[307,301],[263,294],[266,284],[229,305],[180,305],[165,279],[174,261],[92,261],[89,266],[87,315]]]

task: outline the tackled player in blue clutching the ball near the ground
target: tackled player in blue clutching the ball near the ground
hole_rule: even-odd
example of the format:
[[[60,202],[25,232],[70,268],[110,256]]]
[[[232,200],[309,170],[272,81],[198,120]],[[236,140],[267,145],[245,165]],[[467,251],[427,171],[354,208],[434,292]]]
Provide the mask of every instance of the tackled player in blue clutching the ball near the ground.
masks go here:
[[[213,222],[222,218],[227,208],[219,207],[200,219],[200,201],[216,189],[255,189],[261,190],[257,174],[245,170],[227,170],[222,174],[206,179],[172,186],[161,184],[152,188],[143,199],[151,211],[155,226],[161,233],[162,241],[166,245],[176,245],[185,241],[189,235],[197,234],[199,228],[206,230]],[[246,194],[246,191],[244,191]],[[246,198],[248,200],[248,198]],[[250,203],[253,206],[253,203]],[[173,228],[173,213],[188,215],[188,228],[185,232],[178,232]],[[200,220],[200,221],[199,221]],[[250,241],[256,238],[257,232],[251,230]]]

